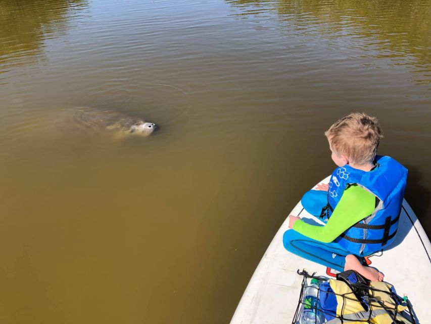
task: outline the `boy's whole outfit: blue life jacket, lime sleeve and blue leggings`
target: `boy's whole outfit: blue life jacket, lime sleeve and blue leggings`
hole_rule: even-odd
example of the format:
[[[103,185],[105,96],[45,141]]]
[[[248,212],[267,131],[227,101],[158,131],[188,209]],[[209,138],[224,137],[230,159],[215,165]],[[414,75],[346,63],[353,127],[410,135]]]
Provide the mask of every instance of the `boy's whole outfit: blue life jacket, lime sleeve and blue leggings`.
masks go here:
[[[376,156],[371,171],[349,165],[332,173],[328,192],[310,190],[301,199],[311,215],[325,207],[324,226],[297,221],[283,235],[286,250],[343,271],[345,256],[363,257],[388,247],[397,233],[407,169]]]

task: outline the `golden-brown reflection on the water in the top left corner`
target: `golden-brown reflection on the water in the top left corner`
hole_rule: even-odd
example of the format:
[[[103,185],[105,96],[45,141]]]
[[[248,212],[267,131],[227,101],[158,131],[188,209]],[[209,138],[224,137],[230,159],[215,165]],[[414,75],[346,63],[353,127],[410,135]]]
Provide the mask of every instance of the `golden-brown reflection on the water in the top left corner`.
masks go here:
[[[40,60],[44,40],[65,34],[69,22],[87,7],[87,0],[2,0],[0,72]]]

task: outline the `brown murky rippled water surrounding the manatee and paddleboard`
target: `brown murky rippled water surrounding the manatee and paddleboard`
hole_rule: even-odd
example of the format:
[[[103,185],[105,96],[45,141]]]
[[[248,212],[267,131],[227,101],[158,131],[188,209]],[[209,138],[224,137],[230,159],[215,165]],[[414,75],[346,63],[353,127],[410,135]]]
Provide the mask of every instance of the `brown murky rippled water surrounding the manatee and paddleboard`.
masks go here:
[[[0,19],[1,322],[229,322],[352,111],[380,118],[431,232],[427,0],[3,0]],[[87,132],[79,107],[160,129]]]

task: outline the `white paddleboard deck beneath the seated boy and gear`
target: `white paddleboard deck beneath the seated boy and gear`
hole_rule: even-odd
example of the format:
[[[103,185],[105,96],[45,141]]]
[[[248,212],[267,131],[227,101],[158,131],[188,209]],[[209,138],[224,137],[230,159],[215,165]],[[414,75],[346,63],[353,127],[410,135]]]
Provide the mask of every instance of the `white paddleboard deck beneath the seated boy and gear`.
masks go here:
[[[329,182],[329,177],[322,181]],[[311,218],[301,202],[292,215]],[[322,223],[323,224],[323,223]],[[298,305],[303,277],[297,270],[306,269],[316,275],[326,274],[326,267],[299,256],[283,247],[283,233],[289,230],[286,219],[275,234],[257,266],[230,324],[292,323]],[[403,201],[398,231],[394,242],[381,253],[370,257],[371,266],[385,274],[398,295],[406,294],[419,322],[431,322],[429,287],[431,286],[431,244],[407,201]]]

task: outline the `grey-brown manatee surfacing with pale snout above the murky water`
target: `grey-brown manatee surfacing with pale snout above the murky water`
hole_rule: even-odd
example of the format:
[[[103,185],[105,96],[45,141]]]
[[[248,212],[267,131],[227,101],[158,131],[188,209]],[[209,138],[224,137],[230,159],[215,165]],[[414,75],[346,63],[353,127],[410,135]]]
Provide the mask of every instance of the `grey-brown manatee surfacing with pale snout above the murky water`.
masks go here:
[[[154,123],[113,110],[80,108],[76,112],[75,121],[91,130],[124,135],[149,136],[157,129]]]

